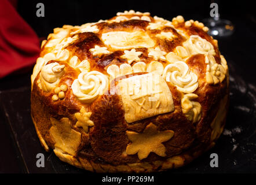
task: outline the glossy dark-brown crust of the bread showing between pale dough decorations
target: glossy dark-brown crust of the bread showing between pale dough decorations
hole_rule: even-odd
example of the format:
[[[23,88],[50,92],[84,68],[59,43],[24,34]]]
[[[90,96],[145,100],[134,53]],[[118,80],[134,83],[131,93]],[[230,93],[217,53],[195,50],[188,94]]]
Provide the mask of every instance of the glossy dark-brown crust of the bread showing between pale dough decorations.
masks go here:
[[[142,16],[139,15],[138,17],[141,18]],[[131,18],[132,15],[126,17]],[[148,17],[151,21],[157,20]],[[113,17],[110,20],[115,19],[116,17]],[[97,25],[98,31],[96,33],[77,33],[78,39],[71,42],[65,49],[70,52],[71,56],[77,56],[80,61],[89,61],[90,71],[98,71],[107,75],[108,66],[113,64],[120,66],[127,63],[127,60],[121,57],[125,54],[124,50],[115,49],[114,47],[108,48],[111,53],[102,56],[93,55],[90,49],[96,46],[106,47],[101,39],[102,34],[110,31],[131,32],[136,30],[147,32],[150,38],[154,40],[155,46],[159,46],[161,51],[169,53],[174,52],[177,46],[182,46],[187,40],[184,35],[177,32],[176,29],[179,29],[187,35],[199,35],[210,42],[214,47],[215,61],[217,64],[221,64],[220,51],[218,51],[218,46],[213,38],[196,25],[186,27],[184,22],[174,23],[175,21],[173,21],[173,27],[166,25],[162,28],[162,32],[169,32],[174,35],[171,40],[158,38],[156,35],[160,34],[161,31],[159,29],[147,29],[149,22],[145,20],[96,23],[93,24]],[[72,27],[69,34],[75,31],[77,29]],[[49,42],[48,40],[45,45]],[[145,62],[145,64],[148,65],[155,61],[155,58],[149,55],[147,47],[138,47],[135,51],[140,52],[140,61]],[[48,52],[50,52],[50,49],[43,46],[41,57]],[[169,64],[166,60],[160,59],[159,61],[164,67]],[[198,88],[193,91],[193,94],[198,95],[198,98],[193,99],[193,101],[200,103],[200,108],[202,108],[199,121],[191,121],[185,115],[182,108],[182,98],[184,98],[185,93],[178,90],[173,83],[166,82],[173,99],[174,111],[128,123],[125,119],[124,102],[120,95],[108,93],[98,96],[89,103],[79,101],[71,86],[78,79],[80,71],[68,62],[57,59],[47,61],[46,64],[54,62],[57,62],[58,65],[64,65],[64,75],[61,76],[56,87],[65,85],[67,90],[63,92],[63,98],[53,100],[53,96],[56,96],[55,89],[47,92],[43,91],[39,84],[35,83],[38,80],[40,81],[40,74],[36,75],[31,92],[31,116],[43,147],[47,151],[50,148],[54,149],[54,153],[60,160],[78,168],[95,172],[154,172],[178,168],[213,147],[224,127],[226,116],[224,110],[228,108],[228,98],[222,102],[221,100],[228,96],[228,75],[220,83],[214,85],[207,83],[207,64],[204,54],[193,54],[184,60],[190,71],[198,77]],[[134,65],[134,63],[131,63],[131,65]],[[134,73],[128,77],[145,74],[147,72]],[[119,78],[122,79],[122,77]],[[115,83],[118,84],[118,80]],[[110,87],[107,91],[111,91]],[[58,95],[58,97],[61,96]],[[81,108],[91,112],[90,121],[92,123],[87,125],[88,132],[87,129],[76,125],[77,117],[75,113],[82,112]],[[224,111],[224,116],[218,116],[220,110]],[[64,121],[65,124],[61,124],[63,119],[66,120]],[[60,125],[55,128],[53,120],[59,121],[58,124]],[[213,121],[215,122],[211,125]],[[166,149],[164,157],[151,152],[147,158],[140,160],[137,154],[126,154],[126,147],[131,143],[131,140],[127,137],[127,131],[141,133],[151,123],[156,125],[159,132],[166,130],[174,132],[171,139],[163,142]],[[76,134],[74,138],[65,137],[63,140],[74,139],[73,144],[75,143],[77,147],[72,150],[65,150],[63,145],[58,145],[59,140],[61,140],[61,132],[58,133],[58,131],[61,130]],[[73,144],[68,141],[68,145]]]

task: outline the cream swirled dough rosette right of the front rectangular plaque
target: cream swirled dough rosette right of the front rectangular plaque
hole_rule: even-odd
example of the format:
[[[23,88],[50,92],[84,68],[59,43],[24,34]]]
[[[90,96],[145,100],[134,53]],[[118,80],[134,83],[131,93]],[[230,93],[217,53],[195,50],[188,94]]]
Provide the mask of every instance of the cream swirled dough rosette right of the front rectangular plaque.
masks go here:
[[[164,68],[163,77],[166,82],[171,82],[177,90],[184,93],[193,92],[198,88],[198,76],[182,61],[167,65]]]

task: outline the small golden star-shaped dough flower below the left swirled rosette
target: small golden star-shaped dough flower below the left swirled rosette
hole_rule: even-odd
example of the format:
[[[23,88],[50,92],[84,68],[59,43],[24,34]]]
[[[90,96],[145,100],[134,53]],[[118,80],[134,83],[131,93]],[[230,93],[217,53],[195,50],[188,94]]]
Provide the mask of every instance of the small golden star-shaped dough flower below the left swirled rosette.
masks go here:
[[[90,120],[90,116],[92,112],[87,112],[84,107],[80,110],[80,112],[75,113],[76,124],[75,127],[82,127],[83,130],[87,133],[88,127],[94,126],[92,120]]]

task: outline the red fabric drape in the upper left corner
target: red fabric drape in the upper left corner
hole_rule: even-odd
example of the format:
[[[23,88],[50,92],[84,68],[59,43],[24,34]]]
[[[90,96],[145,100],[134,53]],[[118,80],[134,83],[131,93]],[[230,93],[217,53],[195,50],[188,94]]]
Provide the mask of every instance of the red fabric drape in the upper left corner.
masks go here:
[[[38,36],[10,2],[1,0],[0,78],[34,64],[39,51]]]

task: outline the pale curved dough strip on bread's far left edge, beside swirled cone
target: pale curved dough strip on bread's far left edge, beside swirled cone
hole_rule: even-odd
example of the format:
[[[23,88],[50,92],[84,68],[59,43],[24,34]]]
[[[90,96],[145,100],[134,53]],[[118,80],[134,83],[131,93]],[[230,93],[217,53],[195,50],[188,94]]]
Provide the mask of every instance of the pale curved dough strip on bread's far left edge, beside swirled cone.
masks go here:
[[[31,84],[33,85],[34,83],[34,80],[36,78],[36,76],[38,75],[38,73],[41,71],[42,67],[47,64],[48,61],[50,60],[55,60],[56,57],[53,53],[47,53],[45,54],[45,56],[43,57],[39,57],[37,60],[36,60],[36,64],[34,66],[34,69],[33,69],[33,73],[31,75]]]

